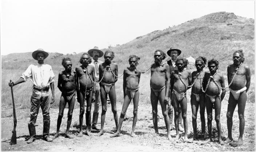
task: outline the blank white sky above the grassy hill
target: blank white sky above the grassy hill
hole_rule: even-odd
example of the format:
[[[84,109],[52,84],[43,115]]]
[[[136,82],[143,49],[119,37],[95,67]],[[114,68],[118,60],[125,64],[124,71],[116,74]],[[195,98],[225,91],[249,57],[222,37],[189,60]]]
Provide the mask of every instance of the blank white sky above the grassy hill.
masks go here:
[[[103,49],[220,11],[254,19],[255,1],[1,0],[1,55]]]

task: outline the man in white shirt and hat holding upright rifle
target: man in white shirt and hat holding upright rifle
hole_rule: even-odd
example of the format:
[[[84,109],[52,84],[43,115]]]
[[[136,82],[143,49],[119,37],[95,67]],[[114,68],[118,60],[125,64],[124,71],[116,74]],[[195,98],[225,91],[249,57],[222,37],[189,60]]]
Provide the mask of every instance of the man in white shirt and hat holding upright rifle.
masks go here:
[[[28,130],[30,138],[27,143],[32,143],[36,139],[36,118],[41,106],[43,112],[43,139],[46,141],[52,141],[49,137],[50,130],[50,104],[54,100],[54,80],[55,75],[53,74],[52,67],[44,63],[44,59],[48,57],[48,53],[43,49],[38,49],[32,53],[32,57],[37,60],[38,63],[31,64],[28,69],[22,74],[19,80],[16,82],[10,82],[9,86],[15,86],[19,83],[25,82],[28,78],[33,83],[33,92],[31,96],[31,112],[30,120],[28,123]],[[49,91],[49,87],[52,90],[52,97]],[[51,101],[51,103],[50,103]]]

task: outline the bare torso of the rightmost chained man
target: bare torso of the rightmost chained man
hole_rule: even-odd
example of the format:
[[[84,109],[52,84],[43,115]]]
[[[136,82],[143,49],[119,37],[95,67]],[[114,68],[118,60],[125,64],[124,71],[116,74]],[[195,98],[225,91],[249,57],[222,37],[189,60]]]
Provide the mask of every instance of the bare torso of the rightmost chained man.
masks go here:
[[[236,77],[235,77],[233,83],[230,86],[230,88],[232,90],[240,90],[243,87],[245,87],[245,84],[246,84],[246,76],[245,76],[246,70],[245,70],[244,66],[245,65],[241,65],[239,70],[237,71]],[[233,64],[228,66],[228,73],[229,73],[229,83],[230,83],[231,80],[233,79],[235,73],[236,73],[236,68]]]

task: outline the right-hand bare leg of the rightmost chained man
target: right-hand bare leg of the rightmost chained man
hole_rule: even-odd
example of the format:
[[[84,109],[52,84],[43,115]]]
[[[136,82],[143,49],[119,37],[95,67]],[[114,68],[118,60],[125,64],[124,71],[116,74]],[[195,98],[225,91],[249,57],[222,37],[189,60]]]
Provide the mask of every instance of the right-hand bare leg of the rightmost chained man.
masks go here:
[[[244,109],[245,109],[246,100],[247,100],[247,95],[246,95],[246,91],[244,91],[243,93],[240,93],[240,96],[237,100],[238,116],[239,116],[239,138],[238,138],[238,141],[231,143],[233,147],[243,145],[244,143],[243,142],[244,125],[245,125]]]

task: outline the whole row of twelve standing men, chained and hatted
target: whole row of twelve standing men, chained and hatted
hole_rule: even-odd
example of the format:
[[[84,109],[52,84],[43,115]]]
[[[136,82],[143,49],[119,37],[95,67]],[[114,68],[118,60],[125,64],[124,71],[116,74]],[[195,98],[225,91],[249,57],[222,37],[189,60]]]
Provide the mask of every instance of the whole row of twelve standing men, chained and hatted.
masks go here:
[[[219,133],[219,143],[224,144],[224,142],[230,142],[233,146],[243,144],[243,132],[245,124],[244,108],[247,99],[246,92],[250,86],[250,70],[249,67],[243,63],[244,54],[242,50],[238,50],[233,54],[234,63],[228,66],[228,83],[230,89],[227,112],[228,137],[224,142],[221,140],[220,108],[221,101],[225,96],[225,83],[223,75],[217,73],[219,62],[215,59],[208,61],[209,72],[205,72],[204,67],[206,65],[206,58],[198,57],[195,62],[197,70],[191,73],[190,70],[186,69],[188,64],[187,59],[177,58],[181,54],[181,50],[170,48],[167,51],[167,54],[171,57],[171,59],[163,63],[163,60],[167,57],[166,54],[162,50],[156,50],[154,53],[155,63],[153,63],[150,68],[150,96],[155,132],[158,133],[157,105],[159,101],[167,128],[168,139],[172,140],[170,130],[172,130],[174,109],[174,123],[176,130],[175,139],[179,139],[179,131],[183,131],[183,120],[185,131],[184,140],[189,142],[187,136],[188,121],[186,91],[192,87],[191,107],[192,125],[194,131],[193,138],[198,139],[196,134],[196,118],[197,111],[200,106],[201,130],[203,133],[205,133],[205,107],[207,109],[207,126],[209,132],[209,139],[207,141],[212,141],[212,109],[214,108],[215,120]],[[104,62],[99,60],[99,58],[102,56],[104,56]],[[116,63],[112,62],[112,59],[115,57],[114,52],[108,50],[103,53],[101,50],[95,47],[89,50],[88,53],[82,54],[80,58],[81,66],[76,67],[75,71],[72,71],[71,59],[64,58],[62,65],[65,70],[59,73],[58,78],[58,88],[61,91],[61,97],[59,104],[59,116],[57,120],[57,131],[56,135],[52,138],[49,136],[49,108],[50,104],[55,101],[53,79],[55,75],[53,74],[52,67],[44,63],[44,59],[48,57],[47,52],[45,52],[43,49],[38,49],[32,53],[32,57],[36,59],[38,63],[30,65],[19,80],[9,83],[9,86],[14,86],[25,82],[28,78],[31,78],[33,83],[33,92],[31,96],[31,116],[28,123],[30,138],[28,139],[27,143],[32,143],[36,139],[35,123],[40,106],[43,111],[43,139],[46,141],[52,141],[58,137],[61,119],[63,118],[63,111],[67,103],[69,110],[65,137],[73,138],[73,136],[69,134],[69,127],[72,121],[75,94],[77,94],[77,101],[80,103],[80,131],[78,136],[83,136],[83,115],[85,112],[85,105],[86,134],[91,135],[91,129],[99,130],[96,124],[99,116],[100,101],[102,104],[101,129],[97,135],[103,135],[105,114],[107,111],[107,95],[109,96],[111,102],[112,112],[117,129],[117,132],[111,135],[111,137],[120,136],[121,125],[131,100],[133,100],[134,106],[131,136],[136,136],[134,130],[137,121],[137,108],[139,102],[139,82],[140,75],[143,73],[136,68],[138,61],[140,60],[139,57],[135,55],[130,56],[128,60],[130,66],[124,69],[124,103],[120,119],[118,119],[116,110],[115,82],[118,78],[118,66]],[[52,92],[51,98],[51,93],[49,91],[50,87]],[[93,102],[94,111],[91,122],[91,105]],[[238,104],[238,113],[240,119],[240,136],[238,141],[233,142],[232,116],[236,104]]]

